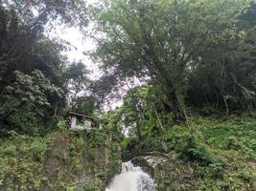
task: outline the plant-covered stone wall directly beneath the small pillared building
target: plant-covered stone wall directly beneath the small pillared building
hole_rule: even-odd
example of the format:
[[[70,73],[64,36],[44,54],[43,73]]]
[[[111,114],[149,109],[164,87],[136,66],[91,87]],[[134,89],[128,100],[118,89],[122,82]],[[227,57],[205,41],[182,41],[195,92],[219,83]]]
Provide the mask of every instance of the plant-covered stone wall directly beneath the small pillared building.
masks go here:
[[[111,136],[103,142],[90,134],[80,131],[52,137],[40,190],[105,190],[107,180],[120,172],[120,149]]]

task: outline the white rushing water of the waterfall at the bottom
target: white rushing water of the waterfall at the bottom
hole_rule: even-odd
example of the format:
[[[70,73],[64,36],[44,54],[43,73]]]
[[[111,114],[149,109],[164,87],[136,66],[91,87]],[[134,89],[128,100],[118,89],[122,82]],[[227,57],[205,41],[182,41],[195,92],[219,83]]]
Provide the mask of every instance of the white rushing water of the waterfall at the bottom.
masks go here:
[[[155,191],[151,177],[130,161],[122,163],[122,172],[114,177],[105,191]]]

